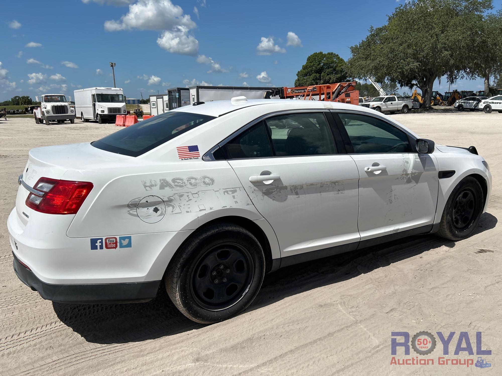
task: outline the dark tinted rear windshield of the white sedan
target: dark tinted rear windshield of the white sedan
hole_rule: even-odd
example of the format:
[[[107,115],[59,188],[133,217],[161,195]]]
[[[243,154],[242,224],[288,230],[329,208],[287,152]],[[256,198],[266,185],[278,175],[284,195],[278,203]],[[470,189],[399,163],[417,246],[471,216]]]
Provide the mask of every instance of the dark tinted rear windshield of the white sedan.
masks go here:
[[[91,145],[112,153],[138,156],[214,118],[170,111],[116,131]]]

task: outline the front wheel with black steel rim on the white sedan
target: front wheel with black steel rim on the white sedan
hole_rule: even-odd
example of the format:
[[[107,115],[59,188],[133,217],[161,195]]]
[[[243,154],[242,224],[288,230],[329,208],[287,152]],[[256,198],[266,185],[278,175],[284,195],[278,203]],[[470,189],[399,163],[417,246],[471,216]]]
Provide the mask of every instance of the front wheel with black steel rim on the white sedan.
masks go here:
[[[472,235],[483,211],[483,190],[472,176],[464,177],[446,203],[438,235],[445,239],[461,240]]]

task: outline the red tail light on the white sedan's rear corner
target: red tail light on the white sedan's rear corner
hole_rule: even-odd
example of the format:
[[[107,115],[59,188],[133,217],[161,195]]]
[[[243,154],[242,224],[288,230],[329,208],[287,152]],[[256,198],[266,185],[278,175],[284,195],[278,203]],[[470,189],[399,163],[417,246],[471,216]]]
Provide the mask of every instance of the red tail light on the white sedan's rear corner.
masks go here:
[[[43,196],[30,193],[26,206],[46,214],[75,214],[92,190],[88,181],[55,180],[41,177],[34,189]]]

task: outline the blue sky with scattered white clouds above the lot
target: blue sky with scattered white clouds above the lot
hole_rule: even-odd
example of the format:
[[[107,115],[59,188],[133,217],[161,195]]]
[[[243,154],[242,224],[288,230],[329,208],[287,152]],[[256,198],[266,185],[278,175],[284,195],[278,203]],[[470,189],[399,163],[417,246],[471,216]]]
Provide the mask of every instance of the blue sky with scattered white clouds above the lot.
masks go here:
[[[196,84],[293,86],[308,55],[332,51],[348,59],[349,47],[371,25],[385,24],[398,3],[382,1],[360,12],[354,3],[338,1],[5,2],[0,101],[111,87],[109,62],[116,63],[116,86],[130,98]],[[495,9],[501,4],[495,0]],[[33,12],[26,11],[30,7]],[[452,85],[482,87],[480,79]],[[444,92],[448,83],[435,89]]]

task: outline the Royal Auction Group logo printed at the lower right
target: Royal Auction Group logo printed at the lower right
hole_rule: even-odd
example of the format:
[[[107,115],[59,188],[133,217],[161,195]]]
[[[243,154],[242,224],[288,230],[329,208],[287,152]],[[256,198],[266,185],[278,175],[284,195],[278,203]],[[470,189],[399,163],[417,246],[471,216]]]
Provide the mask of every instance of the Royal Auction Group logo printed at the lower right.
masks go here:
[[[428,331],[419,331],[413,336],[407,331],[391,332],[391,365],[459,365],[459,366],[476,366],[478,368],[491,367],[491,363],[487,362],[482,356],[468,357],[474,355],[474,349],[471,342],[471,337],[466,331],[461,331],[458,336],[452,331],[448,335],[437,331],[436,335]],[[471,333],[472,335],[472,333]],[[436,340],[437,336],[437,340]],[[411,340],[410,340],[411,337]],[[482,333],[477,331],[475,334],[476,355],[491,355],[491,350],[483,349]],[[455,345],[453,356],[450,355],[450,345]],[[410,347],[421,356],[399,357],[400,353],[410,355]],[[430,354],[438,347],[436,353],[442,350],[443,356],[430,356]],[[442,347],[442,348],[441,348]],[[427,356],[429,355],[429,356]],[[465,357],[467,355],[467,357]]]

